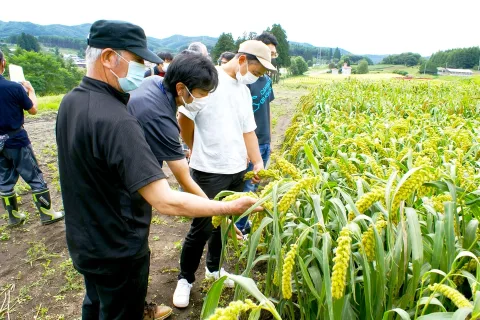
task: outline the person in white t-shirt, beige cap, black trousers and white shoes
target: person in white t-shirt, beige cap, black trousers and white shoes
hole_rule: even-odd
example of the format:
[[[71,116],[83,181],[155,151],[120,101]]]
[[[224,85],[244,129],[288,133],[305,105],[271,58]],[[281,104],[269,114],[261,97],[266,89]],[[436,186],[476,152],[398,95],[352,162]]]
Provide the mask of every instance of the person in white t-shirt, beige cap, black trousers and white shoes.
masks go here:
[[[276,71],[271,63],[270,49],[257,40],[243,42],[235,58],[217,69],[217,89],[209,95],[208,101],[196,104],[204,107],[195,112],[182,107],[178,110],[180,134],[192,150],[192,178],[209,198],[223,190],[243,191],[247,159],[253,163],[254,172],[263,169],[255,134],[252,96],[246,85],[254,83],[267,70]],[[259,177],[252,180],[258,183]],[[213,228],[211,218],[193,219],[183,244],[179,281],[173,295],[173,304],[178,308],[188,306],[190,289],[207,241],[205,276],[218,279],[228,274],[220,269],[220,228]],[[224,284],[234,286],[230,279]]]

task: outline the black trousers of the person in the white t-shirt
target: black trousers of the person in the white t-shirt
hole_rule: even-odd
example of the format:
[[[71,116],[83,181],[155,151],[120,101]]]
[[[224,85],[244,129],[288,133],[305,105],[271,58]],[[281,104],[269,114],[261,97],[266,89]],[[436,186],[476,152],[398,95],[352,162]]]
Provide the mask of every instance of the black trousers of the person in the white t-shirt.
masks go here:
[[[191,169],[191,175],[210,199],[215,198],[223,190],[243,191],[245,185],[243,181],[245,171],[235,174],[215,174]],[[178,279],[186,279],[189,283],[195,281],[195,272],[207,241],[207,268],[210,272],[219,270],[222,254],[221,228],[213,228],[211,217],[194,218],[183,243]]]

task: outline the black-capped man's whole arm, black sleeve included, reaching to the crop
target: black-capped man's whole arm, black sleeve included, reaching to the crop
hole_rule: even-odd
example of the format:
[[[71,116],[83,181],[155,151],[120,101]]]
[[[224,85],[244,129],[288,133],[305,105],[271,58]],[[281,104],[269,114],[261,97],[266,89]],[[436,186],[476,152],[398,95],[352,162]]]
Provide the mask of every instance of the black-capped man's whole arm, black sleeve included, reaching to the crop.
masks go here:
[[[105,159],[112,172],[118,173],[130,193],[138,191],[163,214],[186,217],[241,215],[256,202],[250,197],[231,202],[213,201],[170,189],[142,127],[133,117],[114,124],[107,122],[97,134],[102,138],[98,156]]]

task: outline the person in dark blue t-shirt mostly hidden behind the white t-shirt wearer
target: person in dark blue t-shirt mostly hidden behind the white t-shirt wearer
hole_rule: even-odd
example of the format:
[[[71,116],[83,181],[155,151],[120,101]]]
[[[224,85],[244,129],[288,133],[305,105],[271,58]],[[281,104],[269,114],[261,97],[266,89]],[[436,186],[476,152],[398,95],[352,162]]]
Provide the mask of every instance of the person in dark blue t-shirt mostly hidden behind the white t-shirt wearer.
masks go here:
[[[277,53],[277,38],[268,32],[263,32],[255,38],[255,40],[262,41],[270,49],[272,62],[275,58],[278,57]],[[270,102],[275,99],[273,94],[272,79],[268,75],[264,75],[255,83],[247,85],[252,95],[252,107],[253,114],[255,116],[255,123],[257,124],[257,129],[255,129],[255,134],[258,138],[258,146],[260,148],[260,154],[262,155],[263,165],[266,167],[267,162],[270,159],[270,142],[272,136],[272,123],[271,123],[271,112],[270,112]],[[249,163],[247,171],[253,170],[253,164]],[[257,191],[258,184],[252,183],[251,180],[245,181],[245,192]],[[238,229],[242,231],[243,234],[250,232],[250,223],[248,222],[248,217],[243,217],[236,222]]]

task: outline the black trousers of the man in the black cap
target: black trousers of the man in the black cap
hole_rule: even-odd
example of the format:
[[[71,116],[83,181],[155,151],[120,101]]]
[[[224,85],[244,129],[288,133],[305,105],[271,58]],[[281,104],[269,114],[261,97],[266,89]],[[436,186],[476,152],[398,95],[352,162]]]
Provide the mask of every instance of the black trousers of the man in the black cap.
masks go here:
[[[122,263],[122,273],[84,273],[82,320],[142,320],[147,296],[150,254]]]

